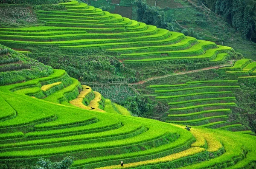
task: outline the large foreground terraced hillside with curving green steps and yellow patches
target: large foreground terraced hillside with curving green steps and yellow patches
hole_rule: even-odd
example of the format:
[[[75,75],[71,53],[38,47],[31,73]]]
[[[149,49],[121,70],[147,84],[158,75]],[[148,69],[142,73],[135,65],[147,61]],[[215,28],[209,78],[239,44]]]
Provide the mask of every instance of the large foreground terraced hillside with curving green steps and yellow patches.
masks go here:
[[[0,56],[16,53],[7,51]],[[74,169],[120,168],[120,161],[125,163],[122,168],[255,166],[254,136],[201,127],[189,132],[184,126],[129,116],[64,70],[3,84],[0,100],[0,163],[9,168],[29,168],[40,157],[59,161],[68,155],[75,159]]]

